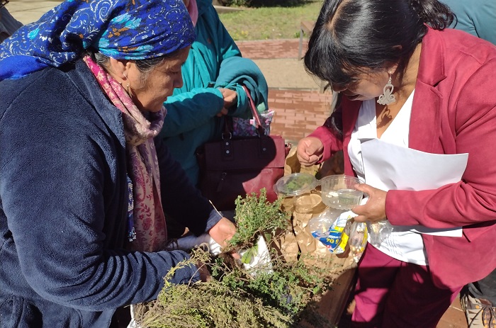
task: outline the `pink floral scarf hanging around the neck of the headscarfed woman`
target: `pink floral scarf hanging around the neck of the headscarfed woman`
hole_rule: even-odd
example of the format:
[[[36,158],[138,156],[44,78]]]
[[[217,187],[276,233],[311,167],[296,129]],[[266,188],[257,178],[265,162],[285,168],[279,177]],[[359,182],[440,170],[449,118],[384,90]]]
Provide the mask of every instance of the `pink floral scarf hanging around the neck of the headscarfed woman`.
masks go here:
[[[159,163],[153,137],[162,129],[166,110],[162,108],[158,113],[150,113],[150,120],[147,120],[118,81],[91,57],[85,56],[84,62],[113,105],[123,114],[128,174],[133,182],[133,223],[136,231],[131,249],[164,249],[167,227],[160,199]]]

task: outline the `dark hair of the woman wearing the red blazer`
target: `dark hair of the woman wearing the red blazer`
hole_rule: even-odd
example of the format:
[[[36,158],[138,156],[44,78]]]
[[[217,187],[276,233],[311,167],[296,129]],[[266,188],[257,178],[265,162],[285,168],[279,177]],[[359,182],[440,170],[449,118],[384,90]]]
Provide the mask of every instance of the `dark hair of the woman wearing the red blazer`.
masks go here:
[[[427,26],[447,28],[455,16],[437,0],[325,0],[310,35],[305,69],[345,86],[360,73],[398,63],[400,79]]]

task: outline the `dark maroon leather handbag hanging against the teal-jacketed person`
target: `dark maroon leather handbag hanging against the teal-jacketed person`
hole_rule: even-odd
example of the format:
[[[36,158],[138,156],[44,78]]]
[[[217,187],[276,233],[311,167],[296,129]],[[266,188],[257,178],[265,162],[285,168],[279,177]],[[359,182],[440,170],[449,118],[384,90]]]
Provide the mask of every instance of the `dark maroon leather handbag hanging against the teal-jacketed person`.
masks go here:
[[[218,210],[234,210],[238,196],[266,189],[269,202],[277,199],[274,184],[284,175],[291,145],[281,135],[267,135],[249,90],[244,86],[257,123],[255,137],[233,137],[226,123],[222,140],[206,142],[196,150],[200,167],[198,187]]]

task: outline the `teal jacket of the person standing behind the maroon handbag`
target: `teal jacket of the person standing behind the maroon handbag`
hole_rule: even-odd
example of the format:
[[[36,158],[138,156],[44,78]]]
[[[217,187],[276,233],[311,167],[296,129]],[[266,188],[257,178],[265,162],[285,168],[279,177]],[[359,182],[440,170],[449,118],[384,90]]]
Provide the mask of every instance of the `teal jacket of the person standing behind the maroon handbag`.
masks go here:
[[[264,104],[260,107],[267,108],[268,93],[259,67],[241,56],[212,6],[212,0],[196,2],[198,36],[182,67],[183,87],[175,89],[173,96],[164,103],[167,115],[159,135],[193,184],[198,183],[196,148],[220,138],[222,133],[224,118],[215,115],[224,101],[217,88],[237,91],[237,107],[230,108],[228,115],[240,118],[252,116],[242,84],[251,91],[257,105]]]

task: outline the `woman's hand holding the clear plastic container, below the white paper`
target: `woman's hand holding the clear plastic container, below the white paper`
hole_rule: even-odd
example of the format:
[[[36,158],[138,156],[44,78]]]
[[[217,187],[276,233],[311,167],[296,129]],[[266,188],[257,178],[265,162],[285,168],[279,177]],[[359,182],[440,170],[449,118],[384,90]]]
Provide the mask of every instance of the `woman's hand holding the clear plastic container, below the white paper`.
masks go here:
[[[356,190],[363,191],[368,195],[367,203],[364,205],[355,206],[352,211],[358,214],[354,218],[358,222],[379,222],[386,219],[385,216],[385,196],[386,191],[368,186],[368,184],[360,183],[355,186]]]

